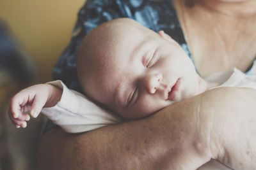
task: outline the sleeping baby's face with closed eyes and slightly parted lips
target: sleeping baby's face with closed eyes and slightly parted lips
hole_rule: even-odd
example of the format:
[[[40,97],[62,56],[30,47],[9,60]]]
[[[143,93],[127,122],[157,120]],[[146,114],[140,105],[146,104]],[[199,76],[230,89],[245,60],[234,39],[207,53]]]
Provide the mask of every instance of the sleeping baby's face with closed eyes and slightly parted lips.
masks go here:
[[[107,48],[100,45],[102,56],[90,63],[93,74],[84,80],[88,96],[134,119],[198,94],[195,67],[172,38],[141,25],[130,27],[102,43]]]

